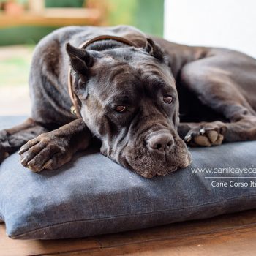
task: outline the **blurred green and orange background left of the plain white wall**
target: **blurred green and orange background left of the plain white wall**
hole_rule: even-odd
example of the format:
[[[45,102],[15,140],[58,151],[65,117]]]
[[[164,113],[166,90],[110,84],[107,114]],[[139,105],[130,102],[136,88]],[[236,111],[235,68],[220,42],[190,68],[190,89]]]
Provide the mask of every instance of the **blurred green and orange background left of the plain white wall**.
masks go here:
[[[164,0],[0,0],[0,115],[29,115],[35,45],[61,26],[129,24],[163,35]]]

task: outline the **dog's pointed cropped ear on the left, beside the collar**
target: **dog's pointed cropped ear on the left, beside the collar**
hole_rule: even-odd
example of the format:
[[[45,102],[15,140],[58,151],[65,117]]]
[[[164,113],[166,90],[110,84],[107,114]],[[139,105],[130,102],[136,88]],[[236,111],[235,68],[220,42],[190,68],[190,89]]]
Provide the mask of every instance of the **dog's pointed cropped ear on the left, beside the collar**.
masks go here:
[[[94,64],[94,57],[87,50],[75,48],[69,42],[66,45],[66,50],[75,72],[78,72],[80,75],[87,75],[89,67],[92,67]]]

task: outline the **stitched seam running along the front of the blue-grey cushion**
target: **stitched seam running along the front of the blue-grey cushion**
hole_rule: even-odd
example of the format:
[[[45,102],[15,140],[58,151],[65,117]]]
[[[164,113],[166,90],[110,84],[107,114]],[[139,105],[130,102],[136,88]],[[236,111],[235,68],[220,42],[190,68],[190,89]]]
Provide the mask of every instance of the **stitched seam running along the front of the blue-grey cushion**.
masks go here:
[[[53,225],[47,225],[45,227],[38,227],[34,230],[30,230],[28,232],[25,232],[25,233],[20,233],[18,235],[14,235],[14,236],[11,236],[12,238],[18,238],[19,236],[24,236],[24,235],[27,235],[29,233],[33,233],[37,230],[44,230],[45,228],[48,228],[48,227],[58,227],[58,226],[61,226],[61,225],[66,225],[68,223],[75,223],[75,222],[91,222],[91,221],[100,221],[100,220],[103,220],[103,219],[114,219],[114,218],[118,218],[118,217],[136,217],[136,216],[139,216],[139,215],[147,215],[147,214],[155,214],[155,213],[162,213],[162,212],[165,212],[165,211],[177,211],[177,210],[183,210],[183,209],[187,209],[187,208],[195,208],[195,207],[202,207],[202,206],[206,206],[206,205],[209,205],[209,204],[214,204],[214,203],[224,203],[224,202],[227,202],[229,200],[233,200],[233,199],[241,199],[241,198],[245,198],[245,197],[255,197],[256,194],[253,194],[253,195],[249,195],[249,196],[241,196],[241,197],[230,197],[228,198],[227,200],[222,200],[222,201],[214,201],[214,202],[209,202],[209,203],[203,203],[203,204],[200,204],[200,205],[195,205],[195,206],[189,206],[189,207],[185,207],[185,208],[175,208],[175,209],[171,209],[171,208],[167,208],[165,210],[161,210],[161,211],[151,211],[151,212],[145,212],[145,213],[139,213],[139,214],[120,214],[120,215],[115,215],[115,216],[110,216],[110,217],[104,217],[104,218],[98,218],[98,219],[80,219],[80,220],[70,220],[70,221],[67,221],[67,222],[62,222],[62,223],[57,223],[57,224],[53,224]]]

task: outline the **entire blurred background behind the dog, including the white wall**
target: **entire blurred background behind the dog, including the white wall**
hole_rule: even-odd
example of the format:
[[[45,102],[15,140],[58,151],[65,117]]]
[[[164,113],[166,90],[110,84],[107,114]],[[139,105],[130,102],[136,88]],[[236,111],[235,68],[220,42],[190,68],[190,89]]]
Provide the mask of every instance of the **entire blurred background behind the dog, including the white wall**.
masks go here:
[[[0,0],[0,115],[29,115],[35,45],[61,26],[128,24],[187,45],[256,57],[255,0]]]

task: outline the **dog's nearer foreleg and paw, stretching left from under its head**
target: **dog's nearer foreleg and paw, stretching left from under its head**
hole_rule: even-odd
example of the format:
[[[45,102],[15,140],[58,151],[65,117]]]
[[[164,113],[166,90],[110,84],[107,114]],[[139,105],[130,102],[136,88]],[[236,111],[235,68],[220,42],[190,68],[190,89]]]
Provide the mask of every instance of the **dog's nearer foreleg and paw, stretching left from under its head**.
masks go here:
[[[91,132],[83,119],[76,119],[29,140],[20,148],[21,163],[34,172],[53,170],[69,162],[77,151],[86,149],[90,140]]]

